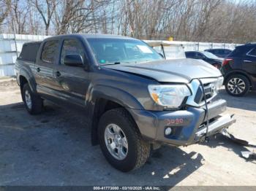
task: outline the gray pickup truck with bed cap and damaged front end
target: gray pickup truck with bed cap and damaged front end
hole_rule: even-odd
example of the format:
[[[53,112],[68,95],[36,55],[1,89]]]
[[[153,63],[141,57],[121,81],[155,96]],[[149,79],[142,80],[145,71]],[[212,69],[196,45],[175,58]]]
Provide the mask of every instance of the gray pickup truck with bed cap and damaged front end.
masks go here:
[[[30,114],[39,114],[44,100],[81,109],[92,144],[120,171],[139,168],[162,144],[195,144],[235,122],[222,114],[218,69],[167,61],[138,39],[72,34],[29,42],[15,71]]]

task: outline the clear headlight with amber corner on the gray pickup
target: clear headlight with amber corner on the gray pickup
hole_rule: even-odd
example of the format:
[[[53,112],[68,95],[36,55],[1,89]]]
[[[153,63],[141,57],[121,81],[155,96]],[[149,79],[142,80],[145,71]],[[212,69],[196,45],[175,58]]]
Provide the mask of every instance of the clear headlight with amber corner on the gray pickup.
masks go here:
[[[160,106],[181,106],[184,98],[191,95],[186,85],[148,85],[151,98]]]

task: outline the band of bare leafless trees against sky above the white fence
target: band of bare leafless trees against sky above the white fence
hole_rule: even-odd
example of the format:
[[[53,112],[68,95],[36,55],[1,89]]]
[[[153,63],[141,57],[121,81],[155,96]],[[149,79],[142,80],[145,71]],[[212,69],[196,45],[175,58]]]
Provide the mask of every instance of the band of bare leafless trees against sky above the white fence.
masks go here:
[[[12,32],[14,21],[20,34],[256,41],[256,0],[0,0],[0,6],[1,31]]]

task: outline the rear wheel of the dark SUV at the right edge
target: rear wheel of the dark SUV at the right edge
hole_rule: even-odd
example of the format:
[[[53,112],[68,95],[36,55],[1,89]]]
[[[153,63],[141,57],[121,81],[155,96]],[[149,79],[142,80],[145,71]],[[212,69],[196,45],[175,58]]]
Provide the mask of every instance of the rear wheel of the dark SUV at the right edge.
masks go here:
[[[246,95],[250,89],[249,79],[241,74],[233,74],[225,82],[225,89],[228,94],[241,97]]]

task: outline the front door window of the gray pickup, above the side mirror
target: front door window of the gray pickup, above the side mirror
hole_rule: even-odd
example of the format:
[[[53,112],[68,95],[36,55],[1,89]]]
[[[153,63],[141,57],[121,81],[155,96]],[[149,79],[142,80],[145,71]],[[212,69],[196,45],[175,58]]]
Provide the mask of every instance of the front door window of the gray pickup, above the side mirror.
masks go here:
[[[61,48],[61,64],[64,64],[65,55],[80,55],[84,58],[84,50],[82,44],[77,39],[64,40]]]

